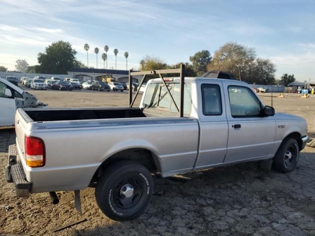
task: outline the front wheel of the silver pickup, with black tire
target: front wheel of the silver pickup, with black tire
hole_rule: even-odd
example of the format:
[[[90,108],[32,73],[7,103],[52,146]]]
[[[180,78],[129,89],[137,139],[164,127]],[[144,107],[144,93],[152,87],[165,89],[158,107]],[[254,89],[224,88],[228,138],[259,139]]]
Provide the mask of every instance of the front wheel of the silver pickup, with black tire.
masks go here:
[[[282,173],[294,170],[299,160],[300,148],[295,139],[284,139],[273,160],[273,168]]]

